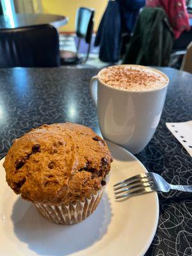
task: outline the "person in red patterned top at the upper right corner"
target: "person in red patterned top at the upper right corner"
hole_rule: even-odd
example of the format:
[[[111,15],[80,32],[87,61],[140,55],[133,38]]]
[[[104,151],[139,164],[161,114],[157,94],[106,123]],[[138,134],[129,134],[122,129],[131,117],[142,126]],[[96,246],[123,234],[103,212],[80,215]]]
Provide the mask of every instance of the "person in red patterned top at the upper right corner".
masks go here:
[[[186,49],[192,41],[192,31],[185,0],[146,0],[148,7],[161,7],[168,16],[175,35],[173,49]]]

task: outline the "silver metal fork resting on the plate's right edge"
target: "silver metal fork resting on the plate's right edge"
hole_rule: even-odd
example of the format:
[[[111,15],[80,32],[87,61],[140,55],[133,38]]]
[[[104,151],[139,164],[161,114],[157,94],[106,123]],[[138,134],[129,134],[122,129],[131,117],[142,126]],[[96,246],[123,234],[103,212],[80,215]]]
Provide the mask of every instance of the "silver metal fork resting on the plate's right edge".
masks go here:
[[[141,195],[153,191],[168,192],[170,189],[192,192],[192,186],[169,184],[159,174],[153,172],[135,175],[116,183],[113,187],[115,199]]]

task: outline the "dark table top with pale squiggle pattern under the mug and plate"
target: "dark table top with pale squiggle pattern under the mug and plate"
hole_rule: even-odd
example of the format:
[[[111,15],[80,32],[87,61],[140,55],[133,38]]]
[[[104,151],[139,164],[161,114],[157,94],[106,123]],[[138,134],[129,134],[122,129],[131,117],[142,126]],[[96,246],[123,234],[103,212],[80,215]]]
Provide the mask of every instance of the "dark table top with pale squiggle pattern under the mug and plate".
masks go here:
[[[192,185],[192,159],[165,122],[192,119],[192,75],[159,68],[170,77],[163,115],[154,137],[137,155],[149,171],[168,182]],[[96,69],[10,68],[0,70],[0,157],[33,127],[77,122],[99,132],[88,84]],[[192,255],[192,194],[159,194],[156,236],[146,255]],[[150,211],[150,209],[148,210]]]

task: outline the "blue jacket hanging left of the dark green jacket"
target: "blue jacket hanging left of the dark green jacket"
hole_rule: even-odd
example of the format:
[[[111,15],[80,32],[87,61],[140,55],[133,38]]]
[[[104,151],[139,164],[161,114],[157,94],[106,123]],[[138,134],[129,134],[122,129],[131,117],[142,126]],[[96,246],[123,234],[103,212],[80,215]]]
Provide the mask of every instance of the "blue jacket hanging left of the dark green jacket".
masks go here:
[[[100,45],[100,60],[113,63],[120,59],[120,36],[120,7],[116,1],[109,1],[95,38],[95,46]]]

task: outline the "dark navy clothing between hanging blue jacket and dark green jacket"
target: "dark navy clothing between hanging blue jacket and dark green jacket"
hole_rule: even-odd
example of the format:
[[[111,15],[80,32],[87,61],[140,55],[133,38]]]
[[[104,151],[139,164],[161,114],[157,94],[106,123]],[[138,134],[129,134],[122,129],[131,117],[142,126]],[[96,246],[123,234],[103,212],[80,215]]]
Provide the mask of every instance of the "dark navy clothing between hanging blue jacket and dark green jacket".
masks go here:
[[[124,31],[131,33],[141,7],[145,5],[145,0],[116,0],[120,4],[122,26]]]

